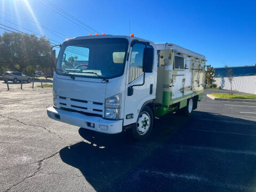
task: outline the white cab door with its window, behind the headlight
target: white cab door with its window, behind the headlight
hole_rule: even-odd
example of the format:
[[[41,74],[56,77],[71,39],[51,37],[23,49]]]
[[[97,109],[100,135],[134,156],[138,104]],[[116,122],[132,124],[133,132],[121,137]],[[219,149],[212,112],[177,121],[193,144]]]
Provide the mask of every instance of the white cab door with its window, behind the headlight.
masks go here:
[[[124,108],[124,125],[137,122],[140,107],[154,97],[154,70],[152,73],[145,74],[145,83],[142,86],[133,86],[133,94],[128,96],[128,87],[140,85],[143,83],[142,62],[146,42],[136,42],[132,44],[130,52],[130,65],[127,68],[126,91],[125,91],[125,108]],[[129,74],[128,74],[129,73]],[[153,92],[154,91],[154,92]],[[139,109],[138,109],[139,108]],[[138,110],[137,110],[138,109]],[[129,115],[127,117],[127,115]],[[132,116],[132,118],[130,118]]]

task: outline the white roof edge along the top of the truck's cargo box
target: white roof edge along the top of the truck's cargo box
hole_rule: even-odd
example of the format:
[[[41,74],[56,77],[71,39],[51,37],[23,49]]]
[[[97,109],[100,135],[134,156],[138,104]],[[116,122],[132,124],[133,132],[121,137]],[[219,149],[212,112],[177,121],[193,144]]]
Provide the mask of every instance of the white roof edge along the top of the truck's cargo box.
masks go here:
[[[187,50],[187,49],[185,49],[181,46],[175,45],[173,43],[155,43],[155,45],[156,45],[157,50],[171,49],[171,50],[175,50],[175,51],[178,51],[178,52],[181,52],[181,53],[185,53],[185,54],[194,56],[194,57],[199,58],[199,59],[205,59],[204,55],[201,55],[201,54],[196,53],[194,51]]]

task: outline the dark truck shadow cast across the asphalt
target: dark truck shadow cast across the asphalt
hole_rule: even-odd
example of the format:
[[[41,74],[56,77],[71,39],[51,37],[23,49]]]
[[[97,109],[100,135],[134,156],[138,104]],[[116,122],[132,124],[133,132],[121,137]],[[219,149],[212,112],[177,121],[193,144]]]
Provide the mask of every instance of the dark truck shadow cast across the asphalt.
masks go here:
[[[247,156],[239,159],[228,153],[219,159],[218,150],[207,150],[242,150],[255,142],[254,138],[248,140],[239,134],[218,133],[238,132],[242,125],[246,125],[244,132],[256,135],[255,122],[200,111],[188,118],[172,114],[156,119],[153,135],[146,142],[135,142],[129,131],[107,135],[81,128],[79,134],[85,141],[61,149],[60,157],[79,169],[97,191],[195,191],[197,187],[220,190],[219,187],[225,188],[229,174],[233,176],[227,182],[234,181],[239,186],[247,185],[254,172],[239,163],[247,161]],[[250,161],[248,166],[254,169],[256,161]]]

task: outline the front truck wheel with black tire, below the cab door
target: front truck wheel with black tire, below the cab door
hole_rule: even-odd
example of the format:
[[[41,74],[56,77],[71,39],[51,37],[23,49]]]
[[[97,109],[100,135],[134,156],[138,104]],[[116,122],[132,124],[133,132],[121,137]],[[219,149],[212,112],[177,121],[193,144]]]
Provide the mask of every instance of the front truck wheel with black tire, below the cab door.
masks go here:
[[[135,140],[146,140],[153,130],[154,115],[150,107],[145,106],[141,109],[137,119],[137,126],[132,128],[132,134]]]

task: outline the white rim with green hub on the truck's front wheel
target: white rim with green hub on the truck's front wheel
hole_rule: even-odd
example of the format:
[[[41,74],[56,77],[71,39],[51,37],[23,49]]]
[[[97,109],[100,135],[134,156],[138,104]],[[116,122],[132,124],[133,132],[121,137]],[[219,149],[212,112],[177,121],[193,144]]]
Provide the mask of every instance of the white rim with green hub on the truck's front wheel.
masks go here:
[[[140,114],[140,117],[137,121],[137,131],[140,135],[146,134],[150,127],[150,116],[145,111]]]

